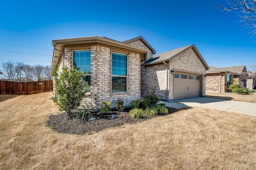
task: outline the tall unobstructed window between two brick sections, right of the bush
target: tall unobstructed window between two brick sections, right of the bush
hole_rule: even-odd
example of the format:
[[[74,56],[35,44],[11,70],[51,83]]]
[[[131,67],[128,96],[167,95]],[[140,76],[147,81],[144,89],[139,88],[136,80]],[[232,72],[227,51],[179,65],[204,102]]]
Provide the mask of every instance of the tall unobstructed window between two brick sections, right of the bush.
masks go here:
[[[127,55],[112,53],[112,92],[126,92]]]

